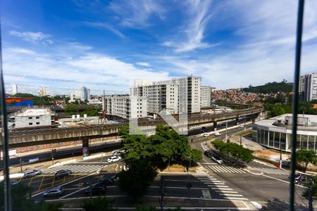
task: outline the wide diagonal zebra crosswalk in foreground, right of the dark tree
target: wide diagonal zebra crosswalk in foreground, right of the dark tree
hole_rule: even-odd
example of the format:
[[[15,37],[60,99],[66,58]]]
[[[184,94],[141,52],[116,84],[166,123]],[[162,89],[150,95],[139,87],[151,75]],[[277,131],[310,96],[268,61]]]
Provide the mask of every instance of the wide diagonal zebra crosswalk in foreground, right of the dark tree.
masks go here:
[[[199,181],[206,184],[209,187],[209,191],[203,190],[203,198],[219,198],[229,200],[249,200],[242,194],[238,193],[234,189],[225,184],[225,181],[218,180],[216,177],[209,176],[208,174],[196,174],[194,175]]]

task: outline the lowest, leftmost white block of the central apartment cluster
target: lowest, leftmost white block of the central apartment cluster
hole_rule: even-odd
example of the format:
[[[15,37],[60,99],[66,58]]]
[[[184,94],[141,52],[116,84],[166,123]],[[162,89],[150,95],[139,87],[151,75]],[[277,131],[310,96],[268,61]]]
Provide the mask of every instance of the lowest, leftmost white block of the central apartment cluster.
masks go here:
[[[102,108],[108,115],[125,119],[147,117],[147,98],[128,95],[105,96]]]

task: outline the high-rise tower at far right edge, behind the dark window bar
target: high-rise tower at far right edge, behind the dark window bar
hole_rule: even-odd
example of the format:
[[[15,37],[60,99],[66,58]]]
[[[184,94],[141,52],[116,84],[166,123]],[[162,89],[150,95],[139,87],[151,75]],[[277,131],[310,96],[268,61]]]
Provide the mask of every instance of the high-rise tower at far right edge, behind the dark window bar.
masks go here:
[[[299,80],[299,92],[304,92],[304,101],[317,99],[317,73],[301,76]]]

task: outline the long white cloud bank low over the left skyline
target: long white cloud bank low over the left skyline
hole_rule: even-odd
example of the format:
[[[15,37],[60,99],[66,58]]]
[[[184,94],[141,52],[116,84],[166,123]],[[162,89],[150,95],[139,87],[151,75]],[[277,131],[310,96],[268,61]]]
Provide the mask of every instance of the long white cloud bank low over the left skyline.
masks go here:
[[[103,54],[69,54],[60,57],[54,53],[16,53],[4,49],[5,82],[34,86],[61,87],[56,93],[66,93],[62,87],[87,86],[92,90],[116,90],[128,93],[132,77],[161,78],[168,72],[144,70],[131,63]],[[99,93],[100,94],[100,93]]]

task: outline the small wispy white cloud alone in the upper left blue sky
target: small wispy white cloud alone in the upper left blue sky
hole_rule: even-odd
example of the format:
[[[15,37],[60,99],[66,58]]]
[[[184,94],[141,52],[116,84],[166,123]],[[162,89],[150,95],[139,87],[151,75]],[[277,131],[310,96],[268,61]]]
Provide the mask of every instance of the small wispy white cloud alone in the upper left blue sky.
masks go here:
[[[42,32],[18,32],[15,30],[12,30],[9,32],[9,34],[15,36],[15,37],[20,37],[25,41],[29,41],[33,44],[46,44],[50,45],[53,44],[54,41],[52,41],[51,34],[44,34]]]

